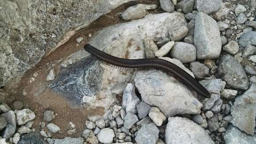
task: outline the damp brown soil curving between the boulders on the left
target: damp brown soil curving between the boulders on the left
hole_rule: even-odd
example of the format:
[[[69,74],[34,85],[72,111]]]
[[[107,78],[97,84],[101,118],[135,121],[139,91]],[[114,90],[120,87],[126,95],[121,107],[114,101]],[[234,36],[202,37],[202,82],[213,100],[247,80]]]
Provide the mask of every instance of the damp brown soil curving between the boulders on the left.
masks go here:
[[[66,100],[64,96],[59,93],[51,91],[47,88],[50,84],[46,81],[46,77],[49,74],[49,70],[53,68],[58,75],[60,70],[60,63],[63,59],[68,57],[74,52],[79,51],[83,48],[83,45],[90,41],[92,36],[98,30],[104,27],[114,25],[117,23],[127,22],[120,18],[120,13],[122,13],[128,7],[135,4],[158,4],[157,0],[138,0],[128,2],[115,8],[110,13],[101,16],[90,26],[79,30],[75,35],[73,35],[66,43],[62,44],[60,47],[56,48],[53,52],[46,54],[41,61],[34,67],[28,70],[23,78],[15,86],[6,86],[4,90],[9,92],[10,95],[6,97],[5,101],[8,105],[11,105],[14,101],[20,100],[24,103],[24,108],[29,108],[34,111],[36,118],[34,119],[34,125],[37,131],[41,131],[40,122],[43,121],[43,112],[47,110],[54,111],[57,115],[56,118],[51,121],[51,123],[56,124],[60,127],[60,133],[52,133],[53,138],[64,138],[64,137],[80,137],[81,133],[85,129],[85,121],[88,116],[92,115],[103,115],[105,109],[103,107],[75,107],[74,103]],[[159,6],[159,4],[158,4]],[[149,13],[161,13],[162,11],[148,11]],[[77,43],[76,39],[78,37],[83,37],[81,43]],[[37,76],[34,74],[37,73]],[[34,81],[33,79],[34,78]],[[24,92],[26,94],[24,94]],[[121,102],[121,96],[117,96],[119,102]],[[68,135],[68,130],[71,129],[69,122],[75,124],[76,133]],[[46,125],[48,123],[46,122]],[[45,132],[48,132],[47,128],[43,128]]]

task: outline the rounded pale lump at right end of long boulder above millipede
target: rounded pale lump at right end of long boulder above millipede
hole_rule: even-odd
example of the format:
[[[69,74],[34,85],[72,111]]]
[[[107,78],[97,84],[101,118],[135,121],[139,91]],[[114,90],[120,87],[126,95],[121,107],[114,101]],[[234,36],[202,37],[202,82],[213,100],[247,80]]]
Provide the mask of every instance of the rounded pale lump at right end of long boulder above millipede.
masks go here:
[[[184,37],[186,37],[188,34],[188,27],[186,26],[180,26],[173,28],[171,31],[169,31],[169,37],[171,41],[181,41]]]

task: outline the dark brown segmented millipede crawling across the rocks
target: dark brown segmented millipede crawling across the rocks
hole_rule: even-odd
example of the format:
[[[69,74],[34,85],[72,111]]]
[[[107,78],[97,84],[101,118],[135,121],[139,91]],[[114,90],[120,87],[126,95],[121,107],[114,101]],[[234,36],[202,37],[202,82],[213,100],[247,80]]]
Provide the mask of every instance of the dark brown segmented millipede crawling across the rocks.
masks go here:
[[[94,55],[102,62],[117,66],[124,69],[135,70],[162,70],[163,72],[173,76],[182,84],[187,86],[192,91],[204,97],[210,97],[210,93],[190,74],[182,70],[179,66],[170,63],[164,59],[122,59],[94,48],[90,44],[84,45],[84,50]]]

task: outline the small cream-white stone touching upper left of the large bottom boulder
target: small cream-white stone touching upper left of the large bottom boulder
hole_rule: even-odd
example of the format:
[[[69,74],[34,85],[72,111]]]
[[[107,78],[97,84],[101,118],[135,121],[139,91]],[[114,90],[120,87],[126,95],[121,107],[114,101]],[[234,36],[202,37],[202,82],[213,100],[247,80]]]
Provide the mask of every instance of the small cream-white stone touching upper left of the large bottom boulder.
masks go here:
[[[166,116],[157,107],[151,107],[148,115],[156,126],[162,126],[166,121]]]

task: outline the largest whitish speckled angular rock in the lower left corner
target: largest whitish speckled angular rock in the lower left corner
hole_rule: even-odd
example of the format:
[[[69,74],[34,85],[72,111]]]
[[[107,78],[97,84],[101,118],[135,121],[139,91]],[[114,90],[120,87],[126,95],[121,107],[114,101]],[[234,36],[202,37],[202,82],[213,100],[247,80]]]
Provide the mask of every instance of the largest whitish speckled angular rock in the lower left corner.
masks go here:
[[[26,122],[29,122],[35,118],[35,114],[30,109],[26,108],[23,110],[16,110],[16,121],[17,125],[24,125]]]

